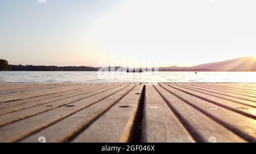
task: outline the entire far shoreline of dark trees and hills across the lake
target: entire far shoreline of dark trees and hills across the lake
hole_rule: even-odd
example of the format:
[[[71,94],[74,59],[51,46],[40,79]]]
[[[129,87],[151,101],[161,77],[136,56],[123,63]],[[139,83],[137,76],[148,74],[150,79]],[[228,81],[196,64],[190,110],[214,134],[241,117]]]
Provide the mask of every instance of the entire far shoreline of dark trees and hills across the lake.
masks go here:
[[[244,58],[243,58],[244,59]],[[220,62],[216,63],[202,64],[192,67],[160,67],[154,68],[125,68],[122,66],[106,66],[104,68],[92,67],[92,66],[46,66],[46,65],[11,65],[7,60],[0,59],[0,71],[123,71],[123,72],[255,72],[256,71],[256,61],[255,64],[250,67],[247,64],[237,66],[235,68],[226,69],[226,65],[236,64],[237,61],[229,61],[227,64]],[[213,65],[212,65],[213,64]],[[213,67],[215,66],[215,67]],[[139,71],[137,71],[139,70]]]

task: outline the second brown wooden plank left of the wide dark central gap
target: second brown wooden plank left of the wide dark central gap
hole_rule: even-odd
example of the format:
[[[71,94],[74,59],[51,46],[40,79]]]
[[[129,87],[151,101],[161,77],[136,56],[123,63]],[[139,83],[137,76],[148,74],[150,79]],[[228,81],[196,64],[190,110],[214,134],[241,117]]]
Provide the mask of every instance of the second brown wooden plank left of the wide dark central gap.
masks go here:
[[[38,139],[38,136],[44,136],[47,139],[47,142],[69,141],[73,138],[73,136],[78,134],[86,126],[88,126],[90,123],[93,123],[94,120],[96,120],[99,116],[104,114],[105,111],[109,110],[110,107],[115,105],[115,103],[117,103],[119,99],[125,96],[134,87],[135,85],[129,85],[125,89],[122,89],[117,93],[110,95],[109,97],[102,99],[101,101],[71,116],[68,116],[67,118],[61,120],[60,122],[57,122],[52,126],[45,128],[42,131],[36,132],[35,134],[28,136],[28,138],[22,140],[22,142],[36,142]],[[113,120],[114,119],[108,119],[106,122],[109,123],[110,121],[113,121]],[[103,126],[103,127],[106,127],[106,126]],[[102,130],[105,130],[105,129],[101,128],[100,131]],[[100,136],[100,134],[97,134],[97,135]],[[108,134],[105,134],[105,135],[108,135]]]

